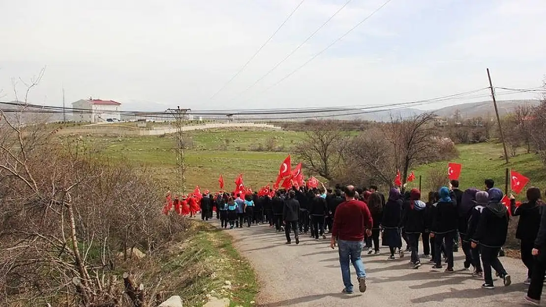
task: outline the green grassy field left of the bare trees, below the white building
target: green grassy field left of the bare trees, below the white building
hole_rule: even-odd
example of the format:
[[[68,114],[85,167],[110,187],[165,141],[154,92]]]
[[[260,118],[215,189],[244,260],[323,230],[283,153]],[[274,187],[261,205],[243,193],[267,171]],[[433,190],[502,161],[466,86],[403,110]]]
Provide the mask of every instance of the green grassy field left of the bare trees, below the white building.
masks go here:
[[[186,133],[192,140],[185,151],[188,171],[187,188],[200,185],[217,190],[218,176],[223,174],[227,189],[244,174],[245,183],[256,189],[275,180],[278,166],[290,148],[304,137],[293,131],[206,130]],[[170,136],[82,136],[87,148],[94,148],[110,158],[126,158],[152,168],[165,186],[175,189],[176,140]],[[70,139],[69,139],[70,140]],[[73,140],[73,137],[72,137]],[[272,151],[265,151],[268,144]],[[260,151],[260,145],[262,151]],[[80,145],[80,147],[82,147]]]

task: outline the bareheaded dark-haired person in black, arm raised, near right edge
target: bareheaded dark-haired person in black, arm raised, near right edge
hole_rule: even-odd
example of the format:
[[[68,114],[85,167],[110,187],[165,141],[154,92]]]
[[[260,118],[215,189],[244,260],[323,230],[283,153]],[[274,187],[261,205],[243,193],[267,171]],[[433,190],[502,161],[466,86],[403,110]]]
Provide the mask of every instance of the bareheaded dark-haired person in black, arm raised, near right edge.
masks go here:
[[[531,251],[535,246],[538,228],[541,225],[541,190],[532,186],[527,189],[527,202],[516,207],[514,195],[510,197],[510,210],[513,216],[519,216],[518,228],[515,237],[520,239],[521,261],[527,267],[527,280],[525,285],[531,284],[531,271],[533,268],[533,255]]]

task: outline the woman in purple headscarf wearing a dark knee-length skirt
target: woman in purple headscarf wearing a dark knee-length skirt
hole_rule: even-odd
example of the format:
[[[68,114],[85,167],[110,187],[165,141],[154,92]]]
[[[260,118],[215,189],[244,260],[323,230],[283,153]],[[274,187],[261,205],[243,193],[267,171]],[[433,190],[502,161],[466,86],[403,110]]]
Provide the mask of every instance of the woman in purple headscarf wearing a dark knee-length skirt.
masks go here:
[[[394,252],[400,250],[400,258],[404,256],[402,248],[402,239],[400,237],[400,226],[402,224],[402,200],[400,192],[397,189],[391,189],[389,200],[383,208],[383,219],[381,226],[383,228],[383,245],[389,246],[390,256],[388,260],[395,260]]]

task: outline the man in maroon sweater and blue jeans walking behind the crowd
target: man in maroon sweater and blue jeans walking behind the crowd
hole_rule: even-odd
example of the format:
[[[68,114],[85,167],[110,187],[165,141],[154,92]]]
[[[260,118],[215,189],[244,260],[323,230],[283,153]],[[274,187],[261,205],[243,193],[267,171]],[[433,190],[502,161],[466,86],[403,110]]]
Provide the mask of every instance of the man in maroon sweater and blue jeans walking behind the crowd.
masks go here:
[[[366,270],[360,253],[364,248],[364,233],[371,236],[373,225],[372,215],[365,202],[354,199],[356,190],[349,185],[345,188],[345,202],[336,209],[330,247],[334,249],[339,244],[341,276],[343,278],[343,293],[352,294],[351,270],[349,262],[357,271],[360,292],[366,291]]]

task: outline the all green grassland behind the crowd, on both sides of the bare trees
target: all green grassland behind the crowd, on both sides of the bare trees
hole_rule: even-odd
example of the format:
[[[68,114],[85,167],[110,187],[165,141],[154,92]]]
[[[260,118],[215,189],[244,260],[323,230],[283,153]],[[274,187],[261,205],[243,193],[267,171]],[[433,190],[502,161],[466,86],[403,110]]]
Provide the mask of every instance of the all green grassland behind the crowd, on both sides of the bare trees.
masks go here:
[[[186,188],[193,190],[195,185],[202,189],[217,190],[218,176],[223,174],[225,189],[233,189],[234,178],[244,174],[245,183],[253,189],[260,188],[275,180],[278,166],[291,149],[305,135],[294,131],[254,131],[254,130],[201,130],[186,133],[192,140],[192,149],[185,151],[188,171]],[[176,140],[170,136],[87,136],[86,146],[93,147],[110,158],[126,158],[151,168],[164,186],[176,190]],[[259,144],[266,148],[268,143],[274,151],[256,151]],[[527,186],[546,187],[546,168],[535,154],[526,154],[523,149],[511,157],[506,165],[502,158],[502,145],[498,143],[479,143],[458,145],[459,158],[453,162],[462,164],[461,189],[475,186],[483,188],[483,180],[492,178],[504,190],[505,169],[508,167],[531,179]],[[293,159],[293,164],[297,161]],[[446,170],[450,161],[422,165],[414,169],[417,177],[422,176],[422,189],[430,190],[428,176],[430,170]],[[394,174],[393,174],[394,179]],[[446,179],[447,182],[447,179]],[[415,188],[416,182],[408,184]]]

